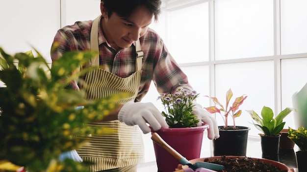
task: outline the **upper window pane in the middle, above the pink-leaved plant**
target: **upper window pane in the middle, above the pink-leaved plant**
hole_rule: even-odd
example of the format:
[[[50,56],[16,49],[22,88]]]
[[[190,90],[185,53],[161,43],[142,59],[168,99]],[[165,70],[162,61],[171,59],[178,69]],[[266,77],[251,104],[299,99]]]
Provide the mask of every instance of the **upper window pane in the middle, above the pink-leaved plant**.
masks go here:
[[[215,58],[274,54],[273,0],[215,0]]]

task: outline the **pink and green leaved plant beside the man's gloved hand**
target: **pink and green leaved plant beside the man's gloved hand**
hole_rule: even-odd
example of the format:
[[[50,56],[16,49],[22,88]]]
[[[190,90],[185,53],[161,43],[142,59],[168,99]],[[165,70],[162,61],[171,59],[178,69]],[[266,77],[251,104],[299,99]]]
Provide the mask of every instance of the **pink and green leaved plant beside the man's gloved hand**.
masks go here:
[[[218,101],[218,99],[216,97],[205,96],[205,97],[210,98],[214,102],[214,104],[216,105],[216,106],[208,107],[208,108],[205,108],[205,109],[209,113],[219,113],[219,114],[221,114],[222,118],[223,118],[223,115],[224,115],[225,118],[223,118],[223,120],[224,120],[224,124],[225,124],[225,126],[224,126],[225,129],[230,128],[228,126],[228,116],[229,115],[232,117],[233,129],[236,129],[235,118],[237,118],[241,115],[242,110],[239,110],[239,107],[243,104],[244,100],[247,98],[247,96],[245,96],[245,95],[237,97],[237,98],[235,98],[234,102],[232,103],[232,106],[228,107],[232,95],[233,95],[232,91],[231,91],[231,89],[229,89],[226,92],[226,106],[225,107]],[[219,106],[219,107],[217,107],[217,106]],[[221,111],[223,111],[224,114],[222,114]]]

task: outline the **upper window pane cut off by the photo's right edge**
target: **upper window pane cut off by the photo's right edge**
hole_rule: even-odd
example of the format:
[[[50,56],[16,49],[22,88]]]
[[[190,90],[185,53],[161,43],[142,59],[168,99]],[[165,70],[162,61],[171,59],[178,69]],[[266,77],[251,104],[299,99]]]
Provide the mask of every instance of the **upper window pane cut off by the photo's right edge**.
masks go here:
[[[281,0],[281,54],[307,52],[307,0]]]

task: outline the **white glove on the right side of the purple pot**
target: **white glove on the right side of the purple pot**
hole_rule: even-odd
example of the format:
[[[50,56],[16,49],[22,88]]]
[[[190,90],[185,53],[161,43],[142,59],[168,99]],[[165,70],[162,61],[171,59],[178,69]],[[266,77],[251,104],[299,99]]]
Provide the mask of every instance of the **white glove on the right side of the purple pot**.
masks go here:
[[[216,120],[211,116],[209,112],[202,108],[200,104],[196,102],[193,103],[195,106],[193,107],[192,113],[197,116],[199,123],[197,126],[202,126],[202,122],[209,125],[208,138],[210,140],[217,139],[220,137],[219,128],[217,126]]]

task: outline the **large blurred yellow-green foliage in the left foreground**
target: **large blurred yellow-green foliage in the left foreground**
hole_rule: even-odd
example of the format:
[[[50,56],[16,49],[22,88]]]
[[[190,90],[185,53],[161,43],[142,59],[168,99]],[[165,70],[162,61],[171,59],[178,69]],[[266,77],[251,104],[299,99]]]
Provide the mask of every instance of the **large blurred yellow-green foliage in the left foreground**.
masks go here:
[[[85,90],[65,88],[95,70],[78,68],[97,52],[67,52],[52,67],[36,53],[9,55],[0,48],[0,160],[29,172],[86,172],[90,162],[61,162],[59,155],[86,143],[78,135],[114,132],[87,124],[102,120],[126,95],[87,101]]]

